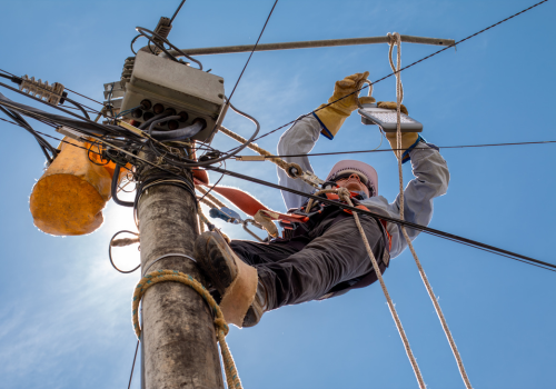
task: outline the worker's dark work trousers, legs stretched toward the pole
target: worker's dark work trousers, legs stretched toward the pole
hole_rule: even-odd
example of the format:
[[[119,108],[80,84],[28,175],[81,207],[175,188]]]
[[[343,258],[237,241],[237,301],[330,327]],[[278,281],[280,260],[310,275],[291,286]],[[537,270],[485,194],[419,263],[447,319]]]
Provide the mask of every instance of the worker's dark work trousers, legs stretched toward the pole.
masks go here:
[[[380,261],[385,250],[383,231],[375,219],[359,219]],[[257,268],[267,288],[269,309],[322,298],[335,287],[349,286],[374,271],[353,216],[325,220],[308,232],[308,238],[302,248],[288,241],[231,241],[234,251]]]

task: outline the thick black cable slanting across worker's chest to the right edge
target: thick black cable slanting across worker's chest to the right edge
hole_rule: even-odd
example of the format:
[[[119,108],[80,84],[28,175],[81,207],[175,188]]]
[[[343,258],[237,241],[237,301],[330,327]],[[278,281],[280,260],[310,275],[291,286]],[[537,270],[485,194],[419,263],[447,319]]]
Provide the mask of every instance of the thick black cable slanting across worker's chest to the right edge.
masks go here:
[[[489,252],[493,252],[493,253],[496,253],[496,255],[499,255],[499,256],[503,256],[503,257],[512,258],[512,259],[519,260],[519,261],[525,260],[525,261],[527,261],[525,263],[529,263],[529,265],[537,263],[537,266],[538,265],[543,266],[544,267],[543,269],[556,272],[556,265],[554,265],[554,263],[549,263],[549,262],[540,261],[538,259],[534,259],[534,258],[530,258],[530,257],[522,256],[519,253],[512,252],[512,251],[508,251],[508,250],[504,250],[504,249],[500,249],[500,248],[497,248],[497,247],[494,247],[494,246],[485,245],[485,243],[478,242],[476,240],[467,239],[467,238],[459,237],[459,236],[456,236],[456,235],[453,235],[453,233],[448,233],[448,232],[444,232],[444,231],[440,231],[440,230],[437,230],[437,229],[434,229],[434,228],[429,228],[429,227],[420,226],[420,225],[417,225],[417,223],[413,223],[410,221],[400,220],[400,219],[396,219],[396,218],[390,218],[390,217],[386,217],[384,215],[378,215],[378,213],[375,213],[375,212],[371,212],[371,211],[361,210],[359,208],[350,207],[350,206],[347,206],[347,205],[344,205],[344,203],[340,203],[340,202],[337,202],[337,201],[334,201],[334,200],[328,200],[327,198],[321,198],[321,197],[309,194],[309,193],[306,193],[306,192],[302,192],[302,191],[299,191],[299,190],[295,190],[295,189],[291,189],[291,188],[282,187],[282,186],[279,186],[277,183],[272,183],[272,182],[259,180],[257,178],[245,176],[245,174],[241,174],[241,173],[238,173],[238,172],[235,172],[235,171],[229,171],[229,170],[225,170],[225,169],[220,169],[220,168],[215,168],[215,167],[207,167],[207,169],[214,170],[214,171],[217,171],[217,172],[220,172],[220,173],[229,174],[231,177],[240,178],[242,180],[247,180],[247,181],[251,181],[251,182],[255,182],[255,183],[259,183],[259,184],[262,184],[262,186],[266,186],[266,187],[270,187],[270,188],[284,190],[284,191],[287,191],[287,192],[290,192],[290,193],[294,193],[294,194],[298,194],[298,196],[301,196],[301,197],[307,197],[309,199],[315,199],[315,200],[318,200],[318,201],[321,201],[321,202],[325,202],[325,203],[328,203],[328,205],[334,205],[334,206],[337,206],[337,207],[339,207],[341,209],[349,209],[351,211],[356,211],[356,212],[359,212],[361,215],[369,215],[369,216],[371,216],[374,218],[378,218],[378,219],[381,219],[381,220],[394,222],[394,223],[396,223],[398,226],[404,226],[404,227],[407,227],[407,228],[411,228],[414,230],[418,230],[418,231],[423,231],[423,232],[426,232],[426,233],[430,233],[430,235],[439,237],[439,238],[445,238],[445,239],[448,239],[448,240],[461,242],[464,245],[473,246],[475,248],[480,248],[483,250],[487,250]],[[530,263],[530,262],[534,262],[534,263]]]

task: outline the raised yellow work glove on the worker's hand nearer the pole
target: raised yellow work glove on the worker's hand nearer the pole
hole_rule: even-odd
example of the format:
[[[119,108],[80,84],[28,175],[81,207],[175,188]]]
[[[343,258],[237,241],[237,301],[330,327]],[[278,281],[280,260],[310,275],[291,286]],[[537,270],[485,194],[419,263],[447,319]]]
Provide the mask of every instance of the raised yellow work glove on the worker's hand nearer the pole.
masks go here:
[[[328,99],[328,103],[331,104],[322,104],[315,111],[315,114],[322,124],[321,133],[326,138],[332,139],[340,130],[340,127],[344,124],[344,121],[346,121],[346,118],[349,117],[360,103],[375,102],[375,98],[373,97],[359,98],[358,91],[363,88],[368,76],[369,72],[366,71],[364,73],[355,73],[346,77],[344,80],[336,81],[334,93]],[[338,99],[341,100],[336,101]]]

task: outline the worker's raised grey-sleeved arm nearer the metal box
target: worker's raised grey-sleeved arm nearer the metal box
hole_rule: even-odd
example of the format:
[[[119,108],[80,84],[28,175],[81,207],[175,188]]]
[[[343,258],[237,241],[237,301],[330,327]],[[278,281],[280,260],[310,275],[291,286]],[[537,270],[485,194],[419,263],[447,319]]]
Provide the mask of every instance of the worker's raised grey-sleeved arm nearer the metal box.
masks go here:
[[[278,154],[290,156],[309,153],[318,140],[320,130],[320,123],[314,116],[299,119],[280,137],[280,140],[278,141]],[[284,160],[286,160],[287,162],[298,163],[302,170],[314,172],[309,162],[309,158],[306,156],[287,157],[284,158]],[[310,184],[299,179],[295,180],[292,178],[289,178],[288,174],[280,168],[277,168],[277,170],[278,183],[280,186],[296,189],[306,193],[311,193],[315,190],[315,188],[312,188]],[[307,201],[306,197],[297,196],[284,190],[281,191],[281,196],[284,197],[284,202],[286,202],[286,208],[288,209],[299,208],[305,201]]]

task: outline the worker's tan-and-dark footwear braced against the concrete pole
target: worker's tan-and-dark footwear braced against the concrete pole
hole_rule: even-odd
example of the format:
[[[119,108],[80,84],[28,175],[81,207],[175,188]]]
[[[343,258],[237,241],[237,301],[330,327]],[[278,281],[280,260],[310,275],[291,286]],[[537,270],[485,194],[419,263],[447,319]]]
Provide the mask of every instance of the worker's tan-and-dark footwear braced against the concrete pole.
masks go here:
[[[217,232],[203,232],[195,241],[197,263],[222,297],[226,321],[238,327],[257,325],[267,309],[268,295],[257,270],[241,261]]]

